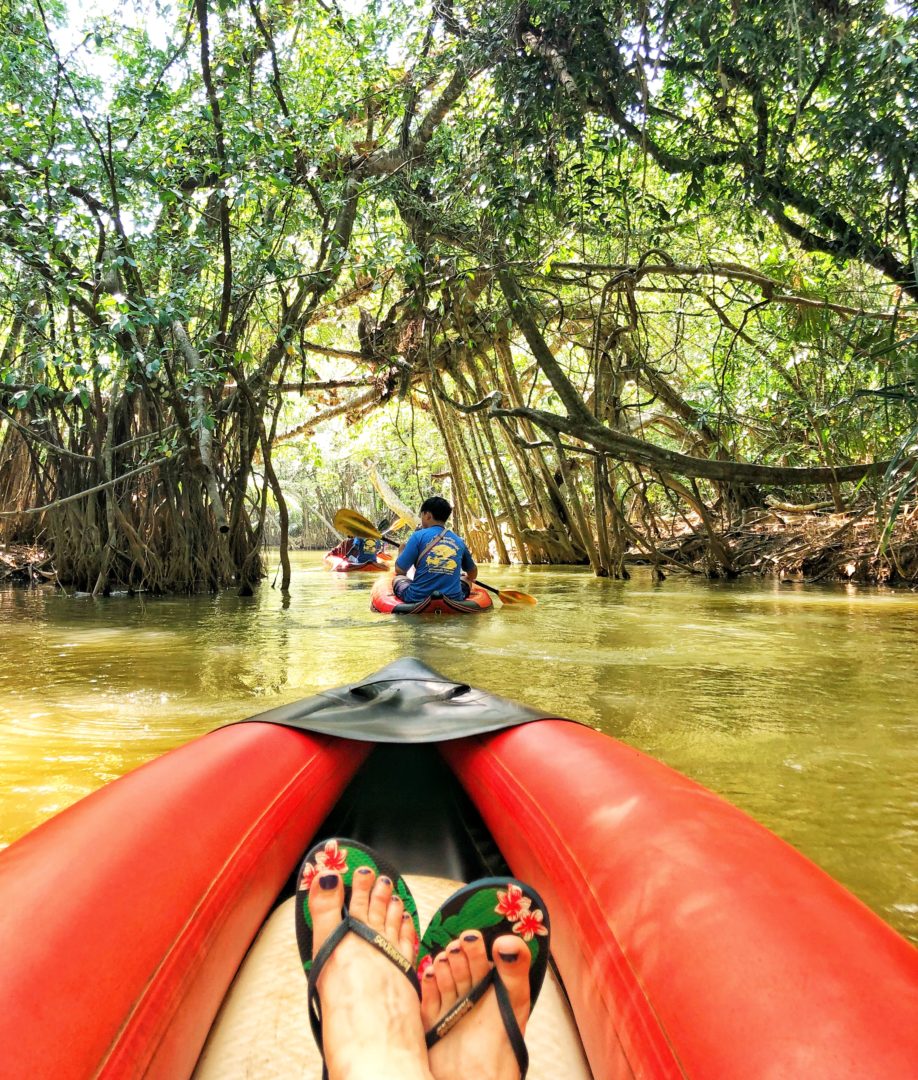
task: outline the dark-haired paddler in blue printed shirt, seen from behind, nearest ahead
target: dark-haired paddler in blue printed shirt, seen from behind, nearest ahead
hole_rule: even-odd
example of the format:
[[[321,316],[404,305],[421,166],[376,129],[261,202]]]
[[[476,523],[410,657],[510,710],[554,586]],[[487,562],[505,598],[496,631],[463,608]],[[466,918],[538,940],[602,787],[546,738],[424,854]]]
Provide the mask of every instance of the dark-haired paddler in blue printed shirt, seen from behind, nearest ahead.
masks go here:
[[[438,495],[421,503],[421,524],[395,559],[393,591],[405,604],[417,604],[431,593],[461,600],[478,568],[464,541],[446,527],[453,508]],[[414,580],[407,577],[415,568]],[[467,581],[462,580],[464,572]]]

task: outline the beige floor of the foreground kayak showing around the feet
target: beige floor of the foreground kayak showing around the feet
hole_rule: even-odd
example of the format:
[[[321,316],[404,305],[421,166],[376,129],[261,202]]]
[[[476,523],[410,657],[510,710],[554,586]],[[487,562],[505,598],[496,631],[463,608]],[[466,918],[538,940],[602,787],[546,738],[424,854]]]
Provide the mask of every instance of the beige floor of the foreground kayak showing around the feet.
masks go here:
[[[461,882],[406,875],[421,928]],[[294,932],[294,899],[261,928],[220,1007],[194,1080],[320,1080],[309,1029],[306,976]],[[527,1027],[530,1080],[591,1080],[570,1007],[554,972]]]

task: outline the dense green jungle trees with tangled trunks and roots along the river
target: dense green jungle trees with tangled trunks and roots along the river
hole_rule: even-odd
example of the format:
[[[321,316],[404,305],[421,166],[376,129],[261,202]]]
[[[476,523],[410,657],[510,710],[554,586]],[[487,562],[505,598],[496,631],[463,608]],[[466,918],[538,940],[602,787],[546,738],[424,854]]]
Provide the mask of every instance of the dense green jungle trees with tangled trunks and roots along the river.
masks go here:
[[[62,583],[270,530],[286,588],[372,464],[481,558],[730,576],[802,510],[918,578],[910,2],[0,12],[0,542]]]

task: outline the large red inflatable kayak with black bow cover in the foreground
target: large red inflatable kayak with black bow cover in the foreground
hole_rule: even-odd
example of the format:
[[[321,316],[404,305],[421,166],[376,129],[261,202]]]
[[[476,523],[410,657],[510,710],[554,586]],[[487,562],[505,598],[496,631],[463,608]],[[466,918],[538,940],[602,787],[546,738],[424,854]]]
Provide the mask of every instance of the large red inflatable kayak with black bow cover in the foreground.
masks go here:
[[[418,888],[509,867],[544,899],[569,1029],[546,984],[530,1080],[915,1076],[918,951],[850,893],[632,747],[403,660],[0,852],[0,1077],[309,1075],[287,897],[337,821]]]

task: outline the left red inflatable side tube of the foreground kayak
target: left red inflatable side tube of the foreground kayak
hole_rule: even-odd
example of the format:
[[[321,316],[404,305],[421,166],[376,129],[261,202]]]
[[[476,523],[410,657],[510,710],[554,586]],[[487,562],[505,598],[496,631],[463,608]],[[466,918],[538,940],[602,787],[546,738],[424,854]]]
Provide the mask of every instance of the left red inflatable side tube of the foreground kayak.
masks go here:
[[[0,853],[0,1077],[190,1075],[258,927],[368,751],[232,725]]]

